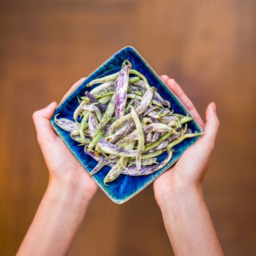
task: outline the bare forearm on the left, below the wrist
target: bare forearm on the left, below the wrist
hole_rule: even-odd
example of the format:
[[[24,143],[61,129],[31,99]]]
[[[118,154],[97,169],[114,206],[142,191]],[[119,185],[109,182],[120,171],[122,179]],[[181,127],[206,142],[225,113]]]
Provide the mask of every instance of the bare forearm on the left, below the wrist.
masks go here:
[[[49,182],[17,255],[67,255],[90,199],[80,187]]]

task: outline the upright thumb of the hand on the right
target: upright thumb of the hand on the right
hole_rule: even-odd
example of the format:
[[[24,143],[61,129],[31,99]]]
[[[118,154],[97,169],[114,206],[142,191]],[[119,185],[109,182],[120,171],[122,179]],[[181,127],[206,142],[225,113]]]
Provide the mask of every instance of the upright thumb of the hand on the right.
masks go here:
[[[200,143],[204,143],[211,150],[214,147],[215,139],[219,129],[219,119],[216,113],[215,103],[212,102],[209,104],[206,110],[206,123],[204,125],[204,135],[198,141]]]

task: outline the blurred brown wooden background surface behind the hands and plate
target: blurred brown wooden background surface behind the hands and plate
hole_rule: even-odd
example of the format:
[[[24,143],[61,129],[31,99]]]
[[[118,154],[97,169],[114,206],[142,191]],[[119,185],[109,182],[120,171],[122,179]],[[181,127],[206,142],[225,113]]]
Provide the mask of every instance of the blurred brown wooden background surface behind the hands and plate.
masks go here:
[[[255,255],[255,10],[254,0],[1,0],[0,254],[16,253],[47,187],[32,113],[131,45],[203,118],[216,102],[205,199],[226,254]],[[173,255],[153,186],[122,205],[99,189],[69,255]]]

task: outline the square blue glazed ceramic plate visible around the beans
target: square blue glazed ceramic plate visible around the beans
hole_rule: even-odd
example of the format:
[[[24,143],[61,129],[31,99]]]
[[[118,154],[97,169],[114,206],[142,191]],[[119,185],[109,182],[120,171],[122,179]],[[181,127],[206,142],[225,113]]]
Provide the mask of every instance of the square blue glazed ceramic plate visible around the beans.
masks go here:
[[[159,94],[165,99],[170,101],[171,109],[174,113],[179,113],[186,115],[187,113],[191,116],[188,110],[183,106],[183,104],[178,100],[178,98],[173,94],[173,92],[165,85],[165,83],[160,79],[160,77],[155,73],[155,71],[150,67],[150,65],[143,59],[143,57],[135,50],[133,47],[124,47],[110,57],[105,63],[103,63],[98,69],[96,69],[87,79],[82,82],[66,99],[56,108],[51,121],[51,124],[55,131],[58,133],[60,138],[63,139],[65,144],[79,160],[79,162],[84,166],[85,170],[89,173],[96,166],[97,161],[95,161],[91,156],[84,153],[84,148],[78,146],[78,142],[75,142],[70,138],[70,133],[58,127],[54,122],[54,116],[60,113],[58,118],[64,117],[73,120],[73,113],[78,107],[78,96],[84,96],[85,91],[89,91],[96,87],[98,84],[92,87],[86,87],[86,84],[91,80],[100,78],[106,75],[110,75],[118,72],[121,69],[121,65],[124,60],[129,59],[132,63],[132,68],[138,70],[142,73],[146,79],[148,79],[149,85],[154,86],[158,89]],[[188,123],[188,127],[192,131],[202,132],[202,128],[199,124],[192,120]],[[139,193],[151,182],[153,182],[159,175],[164,171],[169,169],[183,154],[183,152],[192,144],[194,144],[200,136],[187,138],[183,140],[182,143],[174,147],[175,152],[172,156],[171,161],[159,171],[146,175],[146,176],[129,176],[121,174],[116,180],[108,183],[109,186],[105,186],[103,183],[104,177],[107,175],[110,167],[104,166],[101,171],[97,172],[92,178],[98,184],[99,187],[110,197],[110,199],[118,204],[124,203],[135,194]],[[167,152],[158,156],[158,162],[163,161],[167,156]]]

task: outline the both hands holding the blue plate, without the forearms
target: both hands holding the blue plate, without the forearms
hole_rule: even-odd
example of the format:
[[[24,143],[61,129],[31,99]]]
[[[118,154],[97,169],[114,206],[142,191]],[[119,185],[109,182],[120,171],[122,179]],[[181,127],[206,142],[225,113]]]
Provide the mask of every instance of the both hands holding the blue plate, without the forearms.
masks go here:
[[[161,79],[194,116],[203,128],[204,135],[185,151],[174,166],[154,181],[155,198],[158,204],[161,204],[161,200],[173,191],[183,190],[183,188],[202,190],[203,177],[210,164],[215,138],[219,128],[215,103],[210,103],[207,107],[206,123],[204,124],[192,102],[175,80],[170,79],[167,75],[162,75]],[[62,100],[84,80],[85,78],[81,78],[77,81],[64,95]],[[49,120],[56,107],[57,103],[52,102],[49,106],[33,114],[37,140],[49,170],[49,183],[57,183],[63,187],[80,187],[91,199],[97,191],[97,184],[84,171],[84,168],[70,152],[62,139],[53,131],[50,124]]]

